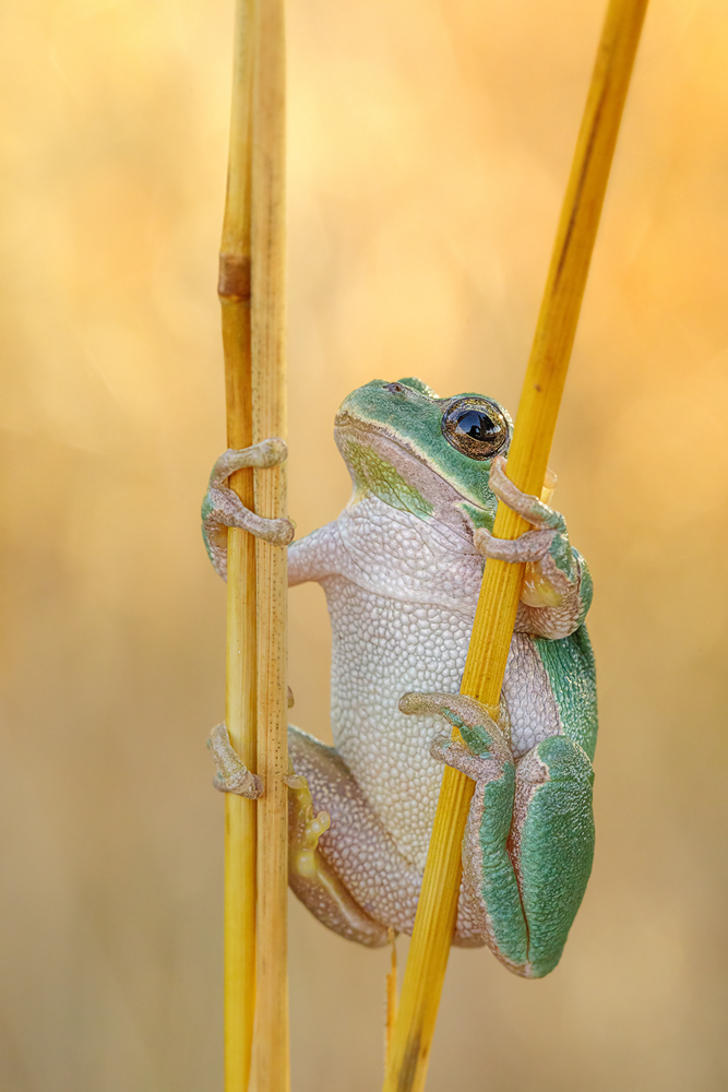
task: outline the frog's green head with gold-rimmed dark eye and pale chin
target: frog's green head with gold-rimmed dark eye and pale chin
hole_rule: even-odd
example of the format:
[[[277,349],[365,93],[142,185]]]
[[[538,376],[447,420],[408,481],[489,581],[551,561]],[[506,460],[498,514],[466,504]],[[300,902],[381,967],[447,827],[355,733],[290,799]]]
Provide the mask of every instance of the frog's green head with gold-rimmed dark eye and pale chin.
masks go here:
[[[482,394],[439,399],[419,379],[374,379],[344,400],[335,426],[353,501],[373,494],[422,520],[492,529],[490,464],[506,454],[513,430],[498,402]]]

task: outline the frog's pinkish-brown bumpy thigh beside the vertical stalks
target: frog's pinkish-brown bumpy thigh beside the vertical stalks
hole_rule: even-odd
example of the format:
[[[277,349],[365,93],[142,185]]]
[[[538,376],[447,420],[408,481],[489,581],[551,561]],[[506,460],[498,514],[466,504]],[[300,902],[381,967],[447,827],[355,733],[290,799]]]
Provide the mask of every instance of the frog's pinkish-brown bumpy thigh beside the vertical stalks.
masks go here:
[[[330,929],[368,947],[385,943],[387,927],[409,930],[419,894],[416,869],[397,853],[333,747],[289,726],[288,748],[296,773],[308,781],[314,812],[331,818],[308,875],[295,867],[291,818],[293,891]]]

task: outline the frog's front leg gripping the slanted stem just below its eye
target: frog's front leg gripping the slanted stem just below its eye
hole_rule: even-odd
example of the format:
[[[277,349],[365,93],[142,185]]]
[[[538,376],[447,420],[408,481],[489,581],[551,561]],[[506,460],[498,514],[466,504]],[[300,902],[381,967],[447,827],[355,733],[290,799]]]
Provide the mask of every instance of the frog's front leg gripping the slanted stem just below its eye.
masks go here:
[[[563,515],[518,489],[505,466],[500,455],[493,459],[490,488],[534,530],[509,541],[494,538],[479,527],[474,534],[475,547],[486,558],[526,563],[516,631],[552,640],[569,637],[584,621],[592,603],[588,568],[569,542]]]

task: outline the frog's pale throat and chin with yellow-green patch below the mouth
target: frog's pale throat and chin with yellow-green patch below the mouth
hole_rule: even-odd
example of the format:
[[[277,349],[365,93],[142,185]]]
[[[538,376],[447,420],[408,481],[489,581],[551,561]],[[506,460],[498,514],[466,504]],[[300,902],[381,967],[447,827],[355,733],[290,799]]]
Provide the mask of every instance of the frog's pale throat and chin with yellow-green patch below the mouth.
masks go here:
[[[435,519],[468,537],[476,527],[492,530],[498,500],[487,484],[489,464],[479,464],[485,471],[484,495],[477,497],[385,425],[372,427],[339,413],[334,439],[351,475],[350,503],[373,494],[392,508]]]

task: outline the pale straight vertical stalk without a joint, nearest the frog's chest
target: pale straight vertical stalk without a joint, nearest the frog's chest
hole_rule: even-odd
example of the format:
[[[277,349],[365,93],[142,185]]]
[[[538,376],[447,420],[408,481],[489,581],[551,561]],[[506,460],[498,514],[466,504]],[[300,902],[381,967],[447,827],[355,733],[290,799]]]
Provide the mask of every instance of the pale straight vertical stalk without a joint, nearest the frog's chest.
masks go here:
[[[252,127],[253,441],[286,438],[284,0],[256,0]],[[255,511],[286,510],[285,463],[255,471]],[[256,543],[258,933],[253,1087],[288,1092],[287,554]]]

